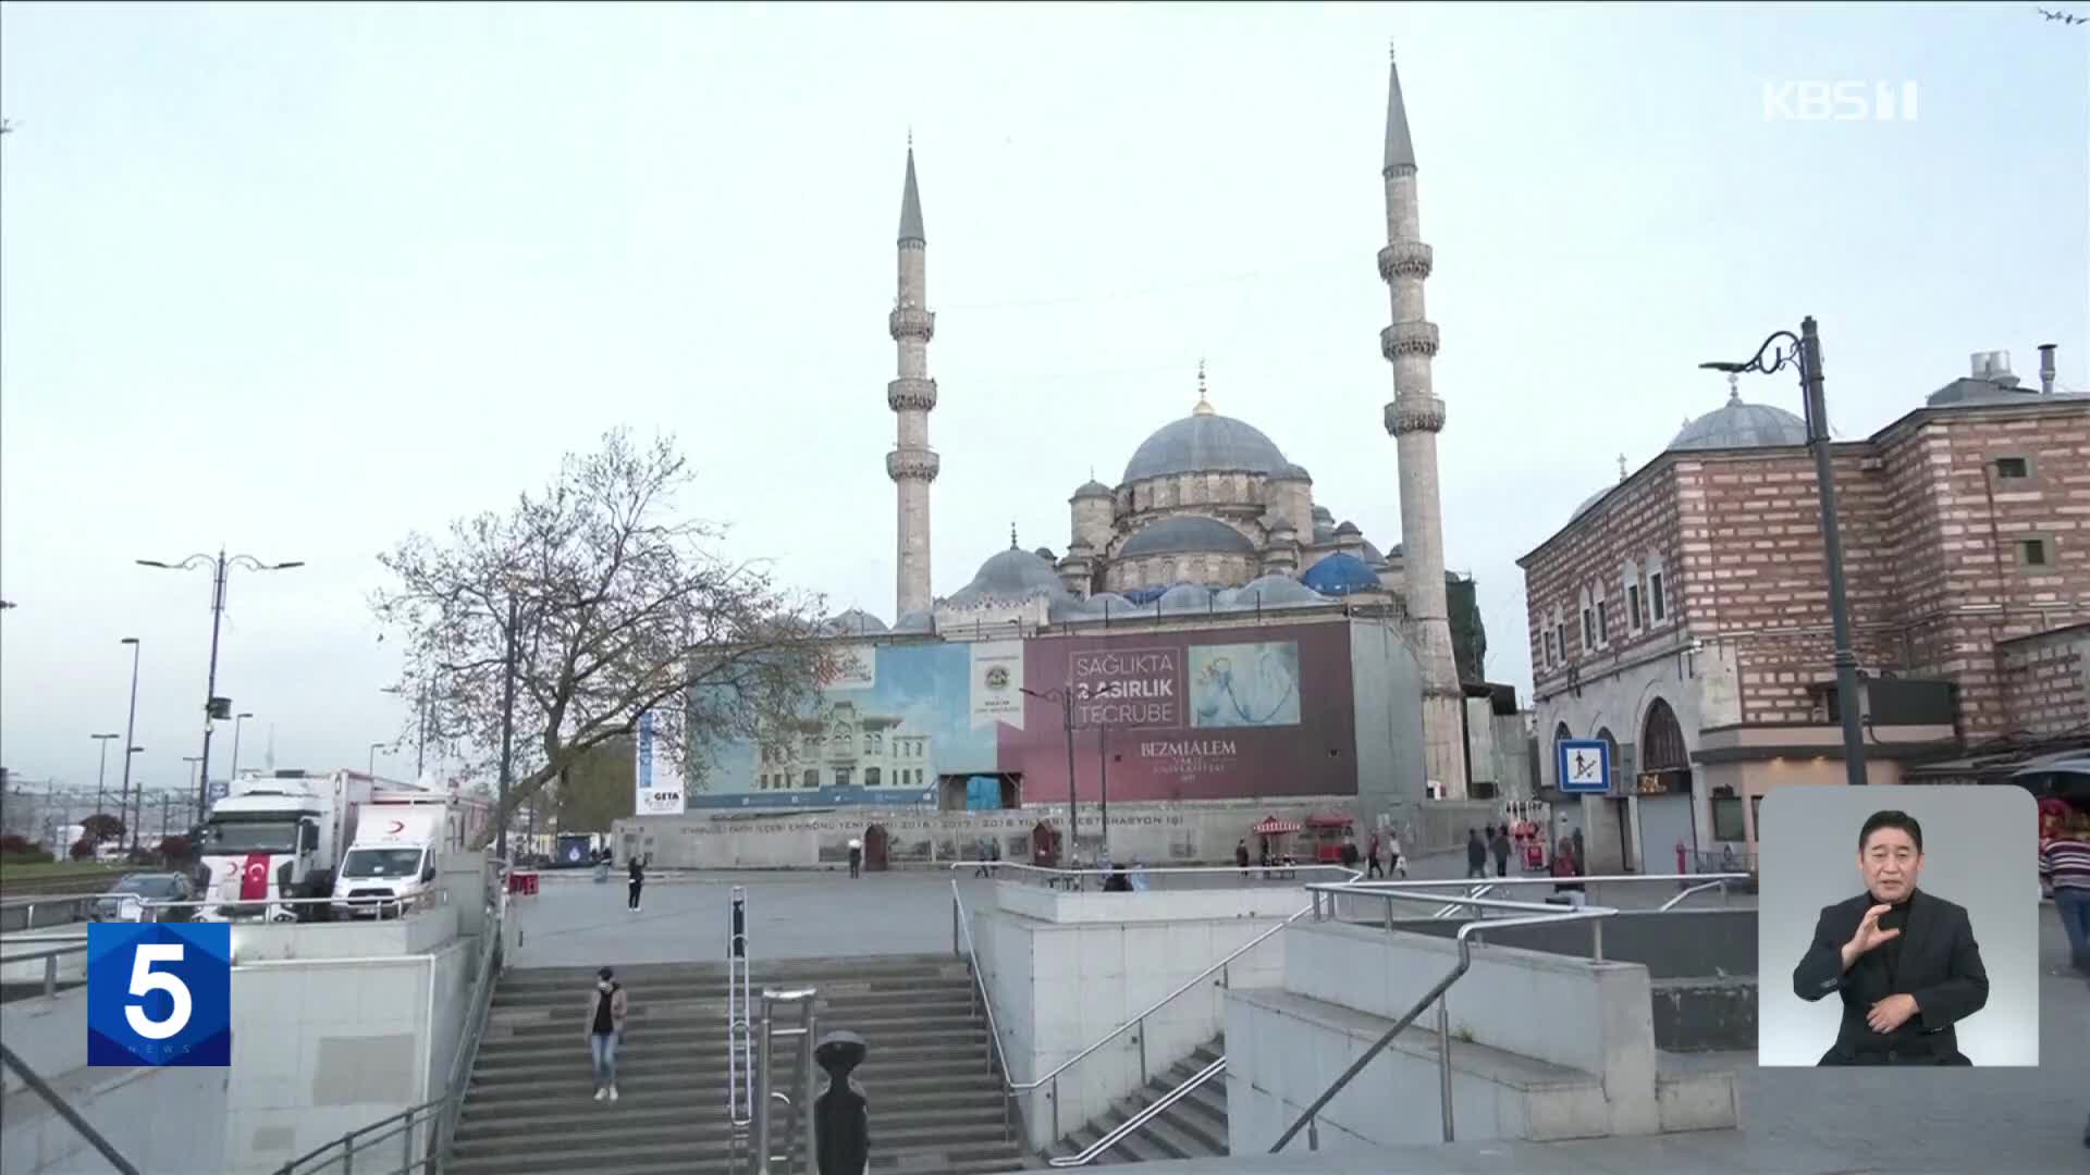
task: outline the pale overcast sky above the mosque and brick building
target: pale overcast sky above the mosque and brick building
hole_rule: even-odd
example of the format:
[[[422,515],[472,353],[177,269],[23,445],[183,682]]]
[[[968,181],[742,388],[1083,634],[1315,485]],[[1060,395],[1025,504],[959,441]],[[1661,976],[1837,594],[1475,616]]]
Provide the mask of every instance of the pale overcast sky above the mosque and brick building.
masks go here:
[[[1200,360],[1396,544],[1388,42],[1446,562],[1519,694],[1517,556],[1724,401],[1699,362],[1816,316],[1841,437],[1973,351],[2090,389],[2090,25],[2029,4],[0,4],[0,761],[94,786],[136,636],[136,774],[186,784],[211,583],[134,560],[224,546],[305,562],[230,581],[242,765],[362,767],[410,723],[376,554],[614,427],[679,437],[727,554],[890,621],[909,132],[938,596],[1012,525],[1066,550]],[[1917,117],[1770,117],[1789,82]]]

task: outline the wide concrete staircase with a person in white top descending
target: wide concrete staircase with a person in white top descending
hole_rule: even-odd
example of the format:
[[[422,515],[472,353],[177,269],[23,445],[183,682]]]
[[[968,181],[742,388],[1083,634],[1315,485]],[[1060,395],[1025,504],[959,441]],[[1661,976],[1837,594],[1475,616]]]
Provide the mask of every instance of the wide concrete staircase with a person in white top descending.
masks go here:
[[[617,1102],[596,1102],[587,993],[596,968],[508,972],[472,1066],[456,1175],[740,1175],[727,1121],[723,964],[617,968],[631,1012],[617,1058]],[[750,989],[817,987],[817,1031],[869,1045],[855,1077],[872,1102],[874,1175],[984,1175],[1024,1167],[989,1073],[986,1018],[963,962],[940,955],[761,962]],[[796,1012],[786,1010],[786,1018]],[[794,1041],[777,1041],[775,1089],[798,1091]],[[826,1083],[826,1075],[819,1077]],[[777,1106],[784,1135],[788,1112]],[[803,1156],[803,1135],[790,1142]],[[782,1150],[782,1142],[777,1144]],[[796,1171],[807,1171],[803,1162]]]

